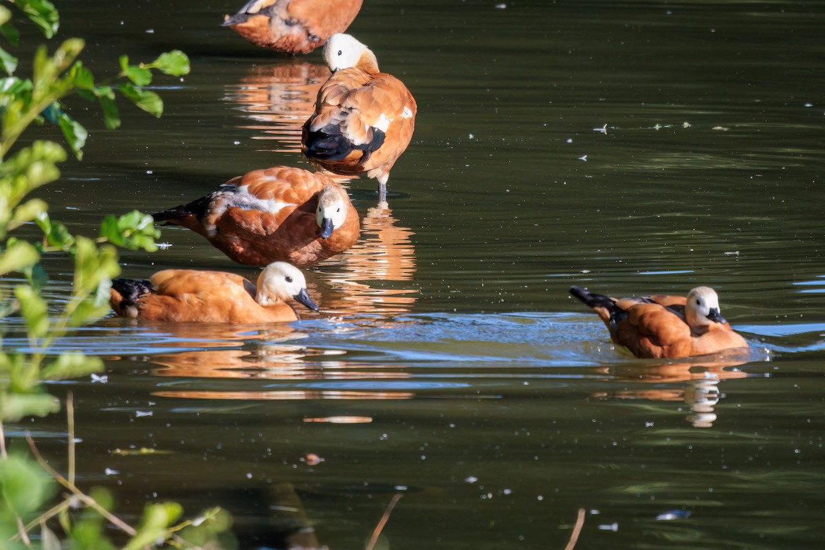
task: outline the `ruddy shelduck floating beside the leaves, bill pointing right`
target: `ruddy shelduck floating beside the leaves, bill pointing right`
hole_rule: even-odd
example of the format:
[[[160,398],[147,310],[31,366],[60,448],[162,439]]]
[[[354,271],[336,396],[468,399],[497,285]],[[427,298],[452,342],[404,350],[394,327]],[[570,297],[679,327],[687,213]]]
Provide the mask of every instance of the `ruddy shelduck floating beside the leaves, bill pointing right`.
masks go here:
[[[111,308],[121,317],[174,322],[289,322],[295,299],[318,311],[304,274],[284,261],[262,270],[257,286],[224,271],[163,270],[149,280],[115,279]]]

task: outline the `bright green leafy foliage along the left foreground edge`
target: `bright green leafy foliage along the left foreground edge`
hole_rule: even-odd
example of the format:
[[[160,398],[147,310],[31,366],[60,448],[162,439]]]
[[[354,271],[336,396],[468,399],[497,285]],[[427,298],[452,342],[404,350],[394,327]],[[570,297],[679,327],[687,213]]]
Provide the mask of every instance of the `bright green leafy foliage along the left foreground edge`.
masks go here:
[[[8,44],[16,46],[20,38],[12,22],[12,6],[20,12],[19,19],[34,23],[46,38],[57,31],[58,12],[48,0],[2,0],[0,35]],[[67,157],[65,149],[51,141],[17,147],[17,140],[32,124],[58,126],[68,148],[81,159],[88,133],[68,113],[66,98],[77,96],[96,102],[106,127],[115,129],[120,125],[115,102],[118,97],[150,114],[162,115],[160,96],[145,89],[152,82],[153,70],[174,76],[189,72],[189,60],[179,51],[136,65],[122,56],[120,74],[111,82],[96,83],[78,59],[83,47],[83,41],[77,38],[65,40],[53,54],[40,45],[31,65],[31,78],[18,77],[18,59],[0,48],[0,71],[7,75],[0,78],[0,277],[18,273],[22,280],[11,290],[0,286],[0,317],[7,320],[6,327],[19,318],[26,334],[25,343],[12,342],[12,346],[0,334],[0,548],[115,548],[106,537],[107,524],[114,524],[124,534],[127,542],[123,548],[127,550],[167,542],[178,548],[214,548],[219,534],[229,529],[229,519],[221,510],[209,510],[196,521],[176,523],[183,511],[180,505],[149,504],[140,524],[133,528],[108,511],[113,503],[107,491],[81,491],[73,479],[71,411],[68,476],[50,468],[31,440],[32,453],[40,463],[27,454],[7,453],[2,431],[5,422],[59,410],[58,400],[46,393],[44,381],[77,378],[102,369],[97,357],[80,352],[54,354],[50,348],[71,328],[108,311],[111,280],[120,273],[115,246],[146,251],[157,248],[159,232],[146,214],[108,216],[101,223],[98,237],[83,237],[50,219],[43,200],[27,198],[31,191],[59,178],[58,164]],[[42,230],[41,242],[10,236],[16,228],[31,223]],[[74,265],[72,293],[56,315],[41,294],[47,280],[41,259],[50,253],[66,254]],[[16,317],[9,320],[12,315]],[[44,470],[50,477],[44,475]],[[55,480],[68,496],[51,510],[41,512],[54,496]],[[64,540],[46,526],[45,520],[51,518],[59,520]],[[35,530],[39,536],[32,539],[30,533]]]

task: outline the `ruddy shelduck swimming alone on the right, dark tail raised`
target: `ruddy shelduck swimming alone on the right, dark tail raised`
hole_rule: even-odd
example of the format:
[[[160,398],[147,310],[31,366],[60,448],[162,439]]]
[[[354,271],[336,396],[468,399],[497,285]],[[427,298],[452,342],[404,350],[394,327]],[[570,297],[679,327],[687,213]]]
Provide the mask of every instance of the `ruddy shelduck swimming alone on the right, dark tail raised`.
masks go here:
[[[601,317],[616,344],[637,357],[675,359],[748,347],[722,317],[719,296],[707,286],[696,287],[687,298],[615,299],[578,286],[570,294]]]

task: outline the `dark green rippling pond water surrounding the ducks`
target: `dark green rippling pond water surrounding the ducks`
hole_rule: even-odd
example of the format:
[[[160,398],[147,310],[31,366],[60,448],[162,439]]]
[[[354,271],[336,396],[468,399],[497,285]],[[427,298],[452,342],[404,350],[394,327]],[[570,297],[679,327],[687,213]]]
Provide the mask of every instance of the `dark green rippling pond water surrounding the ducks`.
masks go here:
[[[306,166],[320,53],[220,28],[240,2],[62,3],[96,73],[168,49],[192,73],[159,81],[161,120],[78,114],[86,157],[42,193],[55,219],[92,234]],[[65,346],[108,377],[52,388],[75,396],[82,485],[132,521],[150,499],[225,505],[246,548],[276,547],[296,498],[320,543],[364,548],[398,492],[384,548],[564,548],[579,508],[577,548],[821,548],[825,5],[504,3],[366,0],[350,31],[419,107],[391,213],[351,182],[361,242],[308,272],[332,313],[78,331]],[[186,230],[162,240],[124,275],[256,274]],[[59,301],[68,264],[48,267]],[[571,284],[714,286],[752,354],[634,360]],[[64,416],[23,427],[59,463]],[[163,453],[115,452],[143,447]],[[691,515],[657,520],[671,510]]]

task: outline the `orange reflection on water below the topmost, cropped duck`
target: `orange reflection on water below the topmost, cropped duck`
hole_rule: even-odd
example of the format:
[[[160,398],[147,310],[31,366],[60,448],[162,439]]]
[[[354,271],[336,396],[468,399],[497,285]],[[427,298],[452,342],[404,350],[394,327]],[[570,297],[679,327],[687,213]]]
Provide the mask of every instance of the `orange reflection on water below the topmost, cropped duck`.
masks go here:
[[[325,65],[296,59],[254,65],[225,99],[238,104],[244,116],[238,128],[254,130],[252,139],[276,142],[270,149],[276,153],[300,153],[301,126],[327,78]]]

